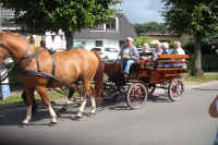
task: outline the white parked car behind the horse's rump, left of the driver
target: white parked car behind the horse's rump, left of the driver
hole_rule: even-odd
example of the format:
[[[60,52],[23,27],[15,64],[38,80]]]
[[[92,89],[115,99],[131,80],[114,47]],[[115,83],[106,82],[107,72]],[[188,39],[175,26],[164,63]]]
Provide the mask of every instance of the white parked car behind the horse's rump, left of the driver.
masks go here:
[[[94,47],[90,50],[98,52],[100,58],[104,59],[105,61],[117,60],[118,59],[118,55],[119,55],[118,48]]]

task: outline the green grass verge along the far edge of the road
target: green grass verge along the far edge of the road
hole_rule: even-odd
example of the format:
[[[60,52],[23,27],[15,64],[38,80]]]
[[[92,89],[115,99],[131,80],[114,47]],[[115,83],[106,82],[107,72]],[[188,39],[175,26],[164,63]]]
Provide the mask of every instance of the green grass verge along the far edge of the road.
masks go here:
[[[196,77],[196,76],[185,76],[184,81],[187,82],[198,82],[198,83],[206,83],[210,81],[218,81],[218,73],[206,73],[203,77]],[[61,98],[66,98],[66,93],[68,90],[64,90],[65,95],[60,94],[56,90],[49,90],[49,98],[52,99],[61,99]],[[39,95],[36,95],[36,99],[40,100]],[[0,105],[8,105],[8,104],[17,104],[17,102],[23,102],[21,96],[10,96],[4,100],[0,99]]]

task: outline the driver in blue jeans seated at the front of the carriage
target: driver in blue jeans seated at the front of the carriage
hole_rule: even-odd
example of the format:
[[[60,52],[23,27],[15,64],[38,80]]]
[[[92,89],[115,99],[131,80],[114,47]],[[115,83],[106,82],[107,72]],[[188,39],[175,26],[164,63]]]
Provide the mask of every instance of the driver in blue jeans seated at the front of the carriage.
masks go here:
[[[125,76],[130,73],[131,64],[140,60],[140,52],[133,45],[133,41],[134,39],[132,37],[128,37],[125,46],[121,49],[119,55]]]

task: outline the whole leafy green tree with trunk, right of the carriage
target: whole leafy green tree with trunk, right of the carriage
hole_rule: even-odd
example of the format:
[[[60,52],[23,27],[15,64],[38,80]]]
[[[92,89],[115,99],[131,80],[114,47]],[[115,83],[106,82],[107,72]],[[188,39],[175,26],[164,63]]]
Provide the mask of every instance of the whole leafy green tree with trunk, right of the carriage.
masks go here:
[[[177,34],[189,34],[195,39],[193,75],[203,75],[201,41],[218,33],[217,0],[162,0],[162,15],[169,29]]]

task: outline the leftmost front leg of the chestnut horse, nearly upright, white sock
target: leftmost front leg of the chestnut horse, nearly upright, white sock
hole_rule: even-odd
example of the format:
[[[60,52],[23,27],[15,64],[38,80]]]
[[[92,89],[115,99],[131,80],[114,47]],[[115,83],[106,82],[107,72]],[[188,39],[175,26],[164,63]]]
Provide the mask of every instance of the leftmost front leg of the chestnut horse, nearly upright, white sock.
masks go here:
[[[26,118],[23,120],[23,124],[28,124],[32,119],[32,106],[34,97],[34,88],[24,87],[26,96]]]

